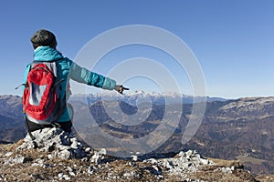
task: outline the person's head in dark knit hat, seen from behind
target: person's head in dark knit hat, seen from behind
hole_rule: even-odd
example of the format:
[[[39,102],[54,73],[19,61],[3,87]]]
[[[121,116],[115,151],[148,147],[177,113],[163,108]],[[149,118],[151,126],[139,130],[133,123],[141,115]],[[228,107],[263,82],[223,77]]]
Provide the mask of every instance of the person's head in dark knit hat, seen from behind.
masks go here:
[[[50,46],[56,49],[57,46],[55,35],[45,29],[38,30],[34,35],[31,36],[30,41],[34,49],[36,49],[38,46]]]

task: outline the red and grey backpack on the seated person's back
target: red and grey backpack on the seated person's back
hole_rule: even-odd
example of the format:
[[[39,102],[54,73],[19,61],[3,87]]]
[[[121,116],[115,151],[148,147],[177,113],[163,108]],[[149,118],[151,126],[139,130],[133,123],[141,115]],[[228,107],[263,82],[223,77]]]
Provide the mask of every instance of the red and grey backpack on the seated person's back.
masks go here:
[[[39,125],[58,121],[66,107],[61,98],[61,82],[58,80],[56,62],[33,62],[27,74],[22,96],[26,119]]]

